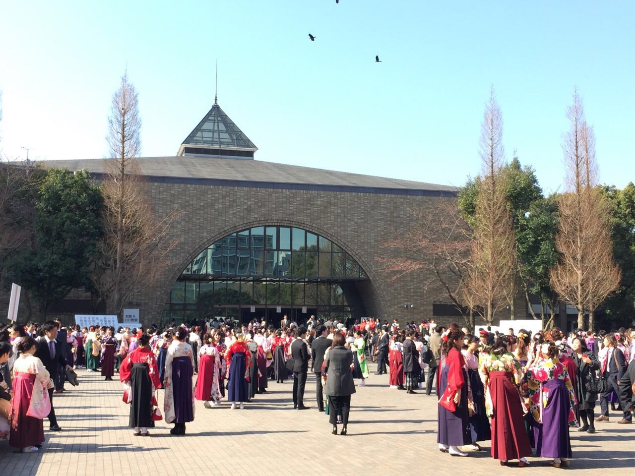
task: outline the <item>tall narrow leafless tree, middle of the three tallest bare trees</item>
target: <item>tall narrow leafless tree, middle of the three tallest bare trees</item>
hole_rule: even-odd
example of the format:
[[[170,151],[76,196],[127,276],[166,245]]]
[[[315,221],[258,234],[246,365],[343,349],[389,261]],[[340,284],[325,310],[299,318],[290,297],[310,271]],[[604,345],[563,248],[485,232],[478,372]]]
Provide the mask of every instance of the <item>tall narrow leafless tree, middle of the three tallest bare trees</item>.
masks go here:
[[[483,179],[476,200],[464,301],[488,324],[516,291],[516,237],[507,207],[502,145],[502,114],[494,89],[481,126]]]

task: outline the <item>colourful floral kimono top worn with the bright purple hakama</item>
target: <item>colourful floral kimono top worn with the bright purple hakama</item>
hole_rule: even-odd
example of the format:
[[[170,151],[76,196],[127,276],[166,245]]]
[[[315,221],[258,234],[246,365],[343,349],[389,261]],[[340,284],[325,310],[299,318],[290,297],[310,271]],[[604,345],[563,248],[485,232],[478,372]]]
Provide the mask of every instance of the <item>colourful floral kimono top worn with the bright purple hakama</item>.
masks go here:
[[[535,421],[542,423],[544,407],[549,401],[549,388],[545,388],[545,383],[549,380],[563,380],[565,381],[570,402],[568,423],[569,426],[577,426],[577,420],[573,411],[577,403],[575,401],[575,392],[566,367],[563,366],[558,359],[540,360],[538,364],[530,367],[527,378],[531,415]]]

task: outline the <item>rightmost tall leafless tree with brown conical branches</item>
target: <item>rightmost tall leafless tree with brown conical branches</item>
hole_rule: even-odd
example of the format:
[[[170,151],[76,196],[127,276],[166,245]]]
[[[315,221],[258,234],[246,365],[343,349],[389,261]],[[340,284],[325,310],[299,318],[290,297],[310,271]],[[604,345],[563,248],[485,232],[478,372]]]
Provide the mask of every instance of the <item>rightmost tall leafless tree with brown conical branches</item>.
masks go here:
[[[596,182],[594,133],[584,119],[577,89],[567,117],[571,127],[563,149],[568,190],[559,198],[560,261],[551,271],[551,286],[577,309],[578,327],[584,327],[585,310],[589,311],[592,329],[596,308],[617,289],[621,274],[613,260],[608,212]]]

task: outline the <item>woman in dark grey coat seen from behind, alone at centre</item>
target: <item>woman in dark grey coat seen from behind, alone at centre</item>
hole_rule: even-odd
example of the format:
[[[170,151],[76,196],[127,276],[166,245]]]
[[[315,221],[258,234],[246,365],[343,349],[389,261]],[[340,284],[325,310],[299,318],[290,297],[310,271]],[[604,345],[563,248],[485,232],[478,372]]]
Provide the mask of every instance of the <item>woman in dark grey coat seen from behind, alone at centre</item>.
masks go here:
[[[337,413],[342,410],[341,435],[347,432],[349,413],[351,411],[351,395],[355,393],[353,381],[353,354],[350,349],[344,347],[346,339],[344,334],[333,334],[333,345],[324,356],[322,375],[326,378],[324,393],[329,399],[329,421],[333,425],[333,435],[337,435]]]

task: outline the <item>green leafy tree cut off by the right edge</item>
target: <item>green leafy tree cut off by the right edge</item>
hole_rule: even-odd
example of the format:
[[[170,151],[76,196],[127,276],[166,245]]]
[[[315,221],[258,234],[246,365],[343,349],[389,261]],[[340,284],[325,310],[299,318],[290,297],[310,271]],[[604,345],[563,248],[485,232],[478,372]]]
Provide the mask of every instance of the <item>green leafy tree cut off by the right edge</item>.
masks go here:
[[[623,190],[605,185],[602,192],[610,206],[613,256],[622,268],[622,279],[604,303],[601,323],[608,328],[631,326],[635,319],[635,185],[631,182]]]

